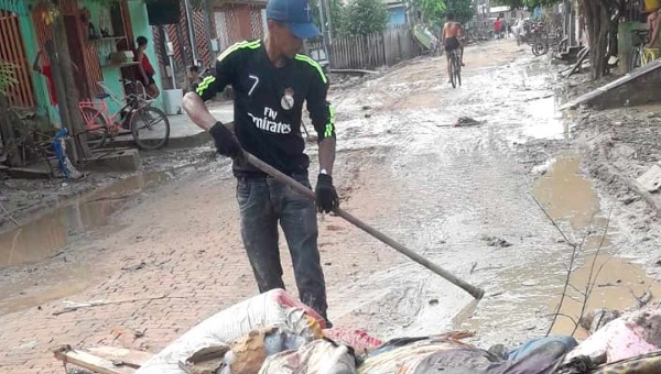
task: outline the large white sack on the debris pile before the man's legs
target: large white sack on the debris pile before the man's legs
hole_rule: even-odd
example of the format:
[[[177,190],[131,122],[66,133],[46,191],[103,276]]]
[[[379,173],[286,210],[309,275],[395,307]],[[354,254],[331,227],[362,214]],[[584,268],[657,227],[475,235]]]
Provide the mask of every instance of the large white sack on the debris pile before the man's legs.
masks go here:
[[[321,338],[325,320],[282,289],[273,289],[229,307],[197,324],[136,374],[185,374],[180,366],[195,352],[209,346],[229,345],[249,332],[279,327],[303,339]]]

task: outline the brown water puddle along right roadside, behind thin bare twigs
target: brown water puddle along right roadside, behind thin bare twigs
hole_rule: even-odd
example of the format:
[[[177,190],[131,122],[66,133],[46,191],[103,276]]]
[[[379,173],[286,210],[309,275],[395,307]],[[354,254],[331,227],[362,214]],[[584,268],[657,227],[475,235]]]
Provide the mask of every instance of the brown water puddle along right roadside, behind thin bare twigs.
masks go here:
[[[565,316],[557,318],[552,330],[560,334],[572,334],[574,322],[566,316],[578,320],[585,302],[583,294],[588,284],[594,283],[595,286],[586,302],[585,314],[596,308],[631,308],[637,305],[637,297],[648,290],[652,296],[661,295],[661,285],[647,276],[639,265],[615,256],[610,234],[604,235],[607,219],[596,217],[600,213],[599,200],[592,183],[579,174],[579,164],[581,158],[576,154],[562,154],[533,187],[533,195],[554,220],[568,221],[577,241],[588,227],[595,231],[585,240],[576,258],[577,265],[575,264],[570,284],[577,289],[568,287],[567,297],[560,310]],[[609,230],[613,232],[613,228]],[[570,257],[571,249],[567,246],[567,254],[562,261],[568,265]],[[551,314],[555,312],[560,298],[557,295],[551,300]],[[584,339],[586,332],[579,328],[576,337]]]

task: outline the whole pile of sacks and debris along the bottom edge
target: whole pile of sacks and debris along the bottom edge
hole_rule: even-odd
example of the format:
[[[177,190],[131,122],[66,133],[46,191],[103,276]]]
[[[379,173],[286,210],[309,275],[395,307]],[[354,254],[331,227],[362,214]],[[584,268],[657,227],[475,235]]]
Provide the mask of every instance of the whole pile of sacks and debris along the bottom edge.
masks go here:
[[[514,350],[483,350],[462,341],[469,336],[451,332],[381,342],[362,331],[325,329],[322,317],[279,289],[212,316],[133,367],[134,374],[661,373],[657,309],[615,318],[581,344],[571,337],[549,337]],[[74,364],[84,354],[56,352]],[[129,373],[108,366],[98,372]]]

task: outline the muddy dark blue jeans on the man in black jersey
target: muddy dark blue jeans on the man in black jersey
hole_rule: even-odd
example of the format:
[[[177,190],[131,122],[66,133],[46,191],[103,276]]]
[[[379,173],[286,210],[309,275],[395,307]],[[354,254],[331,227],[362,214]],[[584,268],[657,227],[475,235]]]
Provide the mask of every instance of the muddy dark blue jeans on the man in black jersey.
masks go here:
[[[293,175],[310,188],[307,175]],[[294,265],[301,301],[326,318],[326,283],[317,249],[314,201],[271,178],[238,178],[241,237],[260,293],[284,288],[278,249],[278,221]]]

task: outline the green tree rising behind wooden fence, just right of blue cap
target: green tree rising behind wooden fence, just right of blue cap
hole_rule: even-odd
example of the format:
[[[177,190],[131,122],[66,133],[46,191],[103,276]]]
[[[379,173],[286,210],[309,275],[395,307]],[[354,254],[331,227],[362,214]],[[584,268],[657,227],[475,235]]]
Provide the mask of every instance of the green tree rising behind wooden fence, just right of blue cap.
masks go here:
[[[381,0],[349,0],[343,13],[346,34],[369,35],[386,30],[388,8]]]

